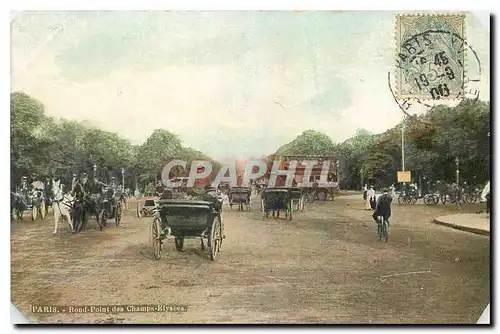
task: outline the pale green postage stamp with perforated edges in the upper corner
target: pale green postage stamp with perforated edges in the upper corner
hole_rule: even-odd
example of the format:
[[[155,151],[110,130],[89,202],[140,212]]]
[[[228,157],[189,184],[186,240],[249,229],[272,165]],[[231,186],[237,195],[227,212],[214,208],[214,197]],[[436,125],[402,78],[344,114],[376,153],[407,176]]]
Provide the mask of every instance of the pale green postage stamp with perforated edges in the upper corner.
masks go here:
[[[396,96],[457,99],[466,77],[465,15],[396,17]]]

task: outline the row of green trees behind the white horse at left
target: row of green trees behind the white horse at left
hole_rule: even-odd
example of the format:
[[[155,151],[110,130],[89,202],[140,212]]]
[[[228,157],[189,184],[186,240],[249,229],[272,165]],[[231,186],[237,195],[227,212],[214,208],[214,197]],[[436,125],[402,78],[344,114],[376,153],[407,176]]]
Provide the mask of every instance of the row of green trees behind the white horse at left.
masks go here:
[[[173,157],[190,163],[210,160],[203,153],[183,147],[178,136],[157,129],[142,145],[133,145],[116,133],[88,122],[49,117],[41,102],[22,92],[11,94],[10,160],[11,184],[22,176],[32,180],[52,175],[71,178],[73,173],[93,172],[104,180],[121,178],[125,170],[127,186],[143,187],[160,177],[162,167]],[[217,167],[218,163],[212,161]],[[181,171],[180,171],[181,172]]]

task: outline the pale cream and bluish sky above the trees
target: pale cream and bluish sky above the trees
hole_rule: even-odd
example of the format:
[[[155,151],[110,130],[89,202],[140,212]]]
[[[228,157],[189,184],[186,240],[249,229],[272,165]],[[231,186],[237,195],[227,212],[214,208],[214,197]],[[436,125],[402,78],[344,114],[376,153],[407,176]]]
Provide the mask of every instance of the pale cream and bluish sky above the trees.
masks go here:
[[[308,129],[341,142],[402,120],[387,82],[396,14],[16,13],[11,91],[134,144],[164,128],[222,160],[271,154]],[[487,17],[468,14],[466,34],[489,101]]]

